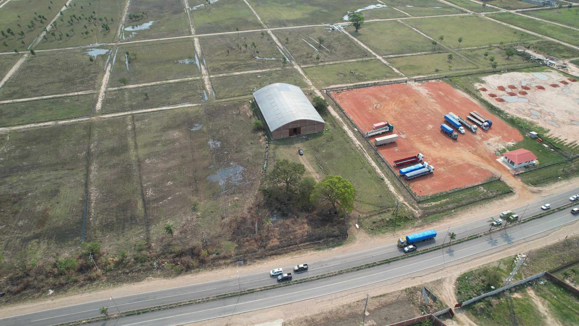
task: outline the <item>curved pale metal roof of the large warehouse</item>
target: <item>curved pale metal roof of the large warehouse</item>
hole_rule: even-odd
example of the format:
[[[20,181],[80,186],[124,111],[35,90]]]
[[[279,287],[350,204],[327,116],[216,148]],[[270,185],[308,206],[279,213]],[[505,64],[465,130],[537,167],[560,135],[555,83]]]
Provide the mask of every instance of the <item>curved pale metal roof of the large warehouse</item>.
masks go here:
[[[298,86],[278,82],[257,90],[254,97],[270,131],[296,120],[324,123]]]

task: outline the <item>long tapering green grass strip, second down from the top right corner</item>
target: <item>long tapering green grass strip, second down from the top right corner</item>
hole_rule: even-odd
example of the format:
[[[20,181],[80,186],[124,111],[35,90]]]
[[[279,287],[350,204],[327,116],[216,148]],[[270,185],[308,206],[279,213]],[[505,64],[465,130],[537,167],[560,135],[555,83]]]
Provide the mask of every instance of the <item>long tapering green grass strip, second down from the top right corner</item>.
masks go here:
[[[563,42],[579,45],[579,32],[571,30],[570,28],[556,26],[554,24],[545,23],[544,21],[514,15],[512,13],[492,13],[488,16],[504,21],[505,23],[525,28],[529,31],[537,32],[538,34],[559,39]],[[523,41],[525,41],[525,38],[523,38]]]

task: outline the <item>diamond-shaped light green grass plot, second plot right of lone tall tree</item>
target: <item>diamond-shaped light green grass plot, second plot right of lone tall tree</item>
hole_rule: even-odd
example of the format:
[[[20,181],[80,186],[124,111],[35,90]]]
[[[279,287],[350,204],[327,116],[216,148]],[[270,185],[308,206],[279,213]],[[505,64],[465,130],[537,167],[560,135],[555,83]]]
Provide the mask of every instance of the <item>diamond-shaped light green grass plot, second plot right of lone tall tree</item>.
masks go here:
[[[495,14],[488,16],[492,15]],[[511,42],[516,31],[494,21],[477,16],[412,19],[407,20],[406,23],[418,28],[424,34],[434,39],[438,39],[440,35],[443,35],[444,41],[442,41],[442,44],[450,48],[468,48],[471,46]],[[532,35],[526,33],[521,34],[521,31],[516,32],[515,37],[521,39],[521,41],[536,39],[536,37]],[[459,44],[458,39],[460,37],[463,38],[463,42]]]

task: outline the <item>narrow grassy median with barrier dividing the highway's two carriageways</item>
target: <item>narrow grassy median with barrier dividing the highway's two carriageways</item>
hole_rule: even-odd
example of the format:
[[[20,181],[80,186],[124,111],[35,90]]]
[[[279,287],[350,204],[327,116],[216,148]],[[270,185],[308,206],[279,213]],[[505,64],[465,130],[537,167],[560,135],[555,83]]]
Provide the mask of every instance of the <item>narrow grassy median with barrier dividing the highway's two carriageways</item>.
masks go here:
[[[124,311],[122,313],[116,313],[116,314],[110,314],[108,316],[98,316],[98,317],[93,317],[93,318],[87,318],[85,320],[78,320],[78,321],[71,321],[68,323],[63,323],[63,324],[56,324],[53,326],[74,326],[74,325],[83,325],[83,324],[87,324],[87,323],[94,323],[97,321],[105,321],[105,320],[109,320],[109,319],[113,319],[113,318],[120,318],[120,317],[127,317],[127,316],[134,316],[137,314],[142,314],[142,313],[148,313],[148,312],[152,312],[152,311],[159,311],[159,310],[166,310],[166,309],[172,309],[172,308],[177,308],[177,307],[182,307],[182,306],[189,306],[189,305],[195,305],[197,303],[204,303],[204,302],[211,302],[211,301],[215,301],[215,300],[219,300],[219,299],[223,299],[223,298],[229,298],[232,296],[237,296],[237,295],[245,295],[245,294],[251,294],[251,293],[255,293],[255,292],[262,292],[262,291],[267,291],[270,289],[276,289],[276,288],[281,288],[281,287],[287,287],[289,285],[296,285],[296,284],[301,284],[301,283],[305,283],[305,282],[310,282],[310,281],[314,281],[314,280],[320,280],[322,278],[328,278],[328,277],[332,277],[332,276],[336,276],[336,275],[340,275],[340,274],[345,274],[345,273],[349,273],[351,271],[356,271],[356,270],[362,270],[362,269],[367,269],[367,268],[371,268],[371,267],[376,267],[376,266],[380,266],[380,265],[384,265],[386,263],[390,263],[390,262],[394,262],[396,260],[401,260],[407,257],[411,257],[411,256],[417,256],[417,255],[422,255],[423,253],[427,253],[427,252],[431,252],[431,251],[436,251],[438,249],[442,249],[445,247],[450,247],[451,245],[455,245],[455,244],[459,244],[461,242],[465,242],[468,240],[472,240],[475,238],[479,238],[479,237],[483,237],[486,236],[487,234],[490,233],[494,233],[497,231],[501,231],[506,229],[507,227],[511,227],[511,226],[515,226],[518,224],[522,224],[522,223],[526,223],[530,220],[534,220],[537,218],[541,218],[545,215],[549,215],[558,211],[562,211],[563,209],[567,209],[573,205],[576,205],[575,203],[569,203],[566,205],[563,205],[562,207],[558,207],[558,208],[554,208],[551,211],[547,211],[547,212],[541,212],[537,215],[531,216],[530,218],[526,218],[523,220],[518,220],[516,222],[512,222],[512,223],[508,223],[505,224],[504,226],[500,226],[497,227],[495,229],[491,229],[491,230],[486,230],[486,231],[482,231],[480,233],[477,234],[472,234],[471,236],[468,237],[464,237],[464,238],[460,238],[458,240],[452,241],[452,242],[447,242],[445,244],[439,244],[439,245],[435,245],[434,247],[430,247],[430,248],[426,248],[420,251],[416,251],[413,253],[409,253],[406,255],[400,255],[400,256],[395,256],[392,258],[387,258],[387,259],[383,259],[383,260],[378,260],[377,262],[372,262],[372,263],[367,263],[364,265],[360,265],[360,266],[354,266],[354,267],[349,267],[347,269],[342,269],[342,270],[337,270],[337,271],[332,271],[330,273],[325,273],[325,274],[321,274],[321,275],[317,275],[317,276],[311,276],[311,277],[306,277],[306,278],[302,278],[301,280],[292,280],[292,281],[288,281],[288,282],[283,282],[280,284],[272,284],[272,285],[266,285],[265,287],[259,287],[259,288],[253,288],[253,289],[247,289],[247,290],[243,290],[243,291],[236,291],[236,292],[230,292],[228,294],[221,294],[221,295],[215,295],[215,296],[208,296],[206,298],[200,298],[200,299],[193,299],[193,300],[186,300],[186,301],[182,301],[182,302],[175,302],[175,303],[169,303],[167,305],[161,305],[161,306],[155,306],[155,307],[148,307],[148,308],[142,308],[142,309],[137,309],[137,310],[129,310],[129,311]]]

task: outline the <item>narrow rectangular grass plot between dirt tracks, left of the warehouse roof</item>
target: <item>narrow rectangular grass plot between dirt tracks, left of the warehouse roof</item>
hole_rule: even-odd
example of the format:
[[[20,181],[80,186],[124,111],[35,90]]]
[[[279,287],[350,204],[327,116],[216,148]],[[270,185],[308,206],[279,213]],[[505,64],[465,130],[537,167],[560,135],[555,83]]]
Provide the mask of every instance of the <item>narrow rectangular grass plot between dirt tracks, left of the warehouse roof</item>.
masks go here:
[[[189,81],[107,90],[104,103],[102,103],[102,111],[107,113],[169,104],[199,103],[199,93],[203,92],[202,87],[201,81]],[[207,96],[211,96],[211,94]]]

